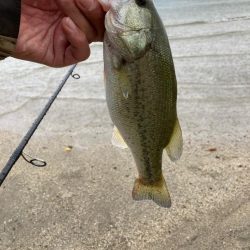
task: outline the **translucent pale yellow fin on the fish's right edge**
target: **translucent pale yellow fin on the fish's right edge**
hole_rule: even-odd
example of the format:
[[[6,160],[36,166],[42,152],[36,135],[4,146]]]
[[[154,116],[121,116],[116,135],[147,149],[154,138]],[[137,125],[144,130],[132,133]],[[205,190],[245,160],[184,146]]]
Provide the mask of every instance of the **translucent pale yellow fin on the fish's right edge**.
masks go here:
[[[167,154],[171,161],[177,161],[182,154],[183,139],[179,120],[177,118],[172,136],[166,147]]]

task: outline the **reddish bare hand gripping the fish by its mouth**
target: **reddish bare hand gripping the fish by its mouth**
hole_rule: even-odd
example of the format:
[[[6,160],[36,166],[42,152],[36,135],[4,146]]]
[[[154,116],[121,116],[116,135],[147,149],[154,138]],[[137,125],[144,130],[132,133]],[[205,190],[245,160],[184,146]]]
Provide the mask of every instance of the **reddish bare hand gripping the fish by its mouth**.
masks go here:
[[[89,44],[103,39],[101,4],[98,0],[21,0],[14,57],[52,67],[87,59]]]

